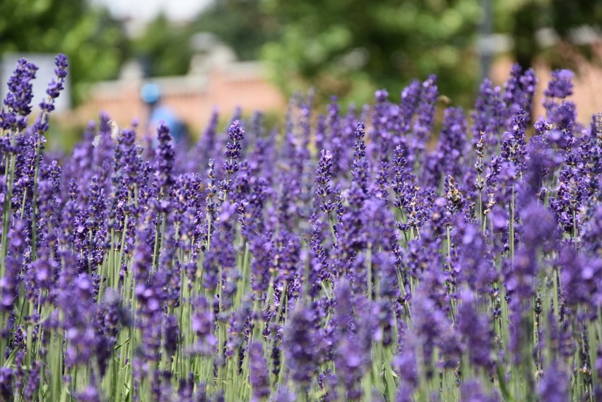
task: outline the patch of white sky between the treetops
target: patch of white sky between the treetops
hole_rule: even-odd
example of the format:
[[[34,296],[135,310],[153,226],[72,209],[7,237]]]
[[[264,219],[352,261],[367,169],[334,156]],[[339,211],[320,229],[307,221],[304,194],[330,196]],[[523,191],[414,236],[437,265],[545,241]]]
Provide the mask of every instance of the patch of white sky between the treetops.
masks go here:
[[[219,0],[218,0],[219,1]],[[161,11],[170,20],[191,20],[212,0],[90,0],[107,6],[118,18],[152,20]]]

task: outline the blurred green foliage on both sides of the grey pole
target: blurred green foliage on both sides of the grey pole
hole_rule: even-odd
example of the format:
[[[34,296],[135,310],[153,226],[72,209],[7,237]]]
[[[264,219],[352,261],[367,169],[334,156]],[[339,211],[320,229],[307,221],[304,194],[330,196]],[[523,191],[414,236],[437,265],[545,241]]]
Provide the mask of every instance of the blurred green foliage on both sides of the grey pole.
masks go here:
[[[442,93],[466,105],[479,78],[476,38],[486,1],[264,0],[262,9],[281,28],[264,56],[288,93],[311,83],[323,94],[365,101],[375,88],[400,88],[435,72]],[[512,57],[525,68],[542,56],[551,66],[566,66],[567,42],[581,54],[591,51],[574,46],[577,29],[600,32],[601,1],[490,1],[493,32],[509,36]],[[555,45],[538,42],[543,28]]]

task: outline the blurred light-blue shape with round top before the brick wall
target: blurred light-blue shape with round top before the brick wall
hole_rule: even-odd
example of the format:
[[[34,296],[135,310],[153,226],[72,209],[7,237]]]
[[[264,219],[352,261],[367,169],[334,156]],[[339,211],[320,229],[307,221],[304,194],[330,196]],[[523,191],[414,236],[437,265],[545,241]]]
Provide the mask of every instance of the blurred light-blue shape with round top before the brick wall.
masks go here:
[[[161,122],[170,129],[175,143],[188,140],[188,131],[182,120],[167,106],[159,105],[161,89],[155,83],[147,83],[140,90],[142,100],[149,107],[148,130],[153,132]]]

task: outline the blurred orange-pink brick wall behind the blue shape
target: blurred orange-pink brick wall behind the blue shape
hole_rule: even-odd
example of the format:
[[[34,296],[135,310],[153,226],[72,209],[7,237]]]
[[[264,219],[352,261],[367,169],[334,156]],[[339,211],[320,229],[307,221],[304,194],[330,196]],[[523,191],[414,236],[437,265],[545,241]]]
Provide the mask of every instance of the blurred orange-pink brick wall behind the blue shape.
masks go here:
[[[104,111],[119,126],[129,126],[134,118],[143,126],[148,119],[148,107],[140,97],[145,82],[119,79],[93,85],[88,102],[74,110],[71,118],[83,124]],[[237,106],[242,107],[244,114],[251,114],[254,110],[281,111],[286,105],[261,64],[254,62],[235,62],[202,75],[155,78],[152,82],[161,88],[161,103],[170,107],[194,133],[206,125],[214,107],[223,116],[230,116]]]

